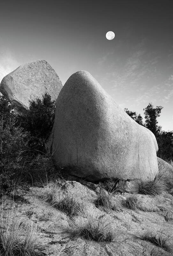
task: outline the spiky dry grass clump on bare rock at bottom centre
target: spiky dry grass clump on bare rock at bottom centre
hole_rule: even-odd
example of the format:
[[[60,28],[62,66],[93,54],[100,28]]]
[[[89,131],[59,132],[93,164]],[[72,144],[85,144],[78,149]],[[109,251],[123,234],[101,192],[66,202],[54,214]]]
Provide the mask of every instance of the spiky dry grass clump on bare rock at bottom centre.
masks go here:
[[[109,223],[102,221],[103,216],[88,216],[86,223],[80,225],[74,232],[75,236],[81,236],[96,242],[114,242],[117,229],[111,229]]]

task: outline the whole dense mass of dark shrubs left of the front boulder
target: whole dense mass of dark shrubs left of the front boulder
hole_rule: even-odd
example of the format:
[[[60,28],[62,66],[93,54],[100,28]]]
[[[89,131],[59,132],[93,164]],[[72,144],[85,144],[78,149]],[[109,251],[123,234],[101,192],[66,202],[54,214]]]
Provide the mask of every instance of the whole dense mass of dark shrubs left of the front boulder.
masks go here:
[[[47,175],[54,173],[51,154],[45,149],[43,139],[46,138],[45,129],[48,129],[46,125],[50,124],[53,118],[49,114],[54,112],[55,106],[50,102],[50,96],[45,94],[42,101],[37,99],[36,103],[32,102],[26,116],[11,114],[9,102],[4,97],[0,98],[0,103],[0,190],[10,192],[23,182],[46,181]],[[46,123],[44,125],[43,118]],[[39,125],[40,133],[37,134]],[[49,131],[50,127],[48,134]]]

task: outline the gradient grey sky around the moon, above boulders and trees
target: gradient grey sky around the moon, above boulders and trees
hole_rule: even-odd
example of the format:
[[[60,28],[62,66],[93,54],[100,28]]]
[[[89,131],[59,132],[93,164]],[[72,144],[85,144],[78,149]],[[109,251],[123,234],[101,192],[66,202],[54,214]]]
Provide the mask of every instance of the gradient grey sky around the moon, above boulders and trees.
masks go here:
[[[39,59],[63,85],[87,70],[122,108],[143,116],[148,103],[162,106],[159,125],[172,131],[172,10],[171,0],[1,0],[0,80]]]

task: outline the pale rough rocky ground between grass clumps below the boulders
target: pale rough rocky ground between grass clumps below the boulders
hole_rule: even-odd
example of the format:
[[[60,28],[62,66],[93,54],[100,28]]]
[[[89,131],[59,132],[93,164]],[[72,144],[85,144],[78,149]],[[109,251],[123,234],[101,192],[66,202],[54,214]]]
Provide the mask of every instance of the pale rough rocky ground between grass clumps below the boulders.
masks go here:
[[[59,181],[61,183],[61,181]],[[102,216],[103,223],[109,223],[115,230],[116,238],[113,242],[95,242],[73,235],[74,230],[85,222],[84,216],[70,218],[57,210],[49,202],[45,202],[41,195],[46,188],[31,187],[23,197],[11,200],[9,196],[1,197],[1,212],[15,214],[27,225],[34,225],[39,232],[39,247],[41,255],[49,256],[169,256],[171,252],[138,236],[144,231],[153,233],[163,232],[172,234],[173,231],[173,196],[137,195],[140,200],[140,210],[130,210],[122,202],[128,193],[112,194],[112,210],[103,206],[96,207],[94,200],[103,189],[87,183],[82,185],[77,181],[66,181],[61,184],[63,195],[75,195],[84,203],[86,216]],[[22,200],[21,200],[22,199]],[[3,204],[2,204],[3,203]],[[29,223],[29,224],[28,224]],[[171,242],[171,241],[169,241]]]

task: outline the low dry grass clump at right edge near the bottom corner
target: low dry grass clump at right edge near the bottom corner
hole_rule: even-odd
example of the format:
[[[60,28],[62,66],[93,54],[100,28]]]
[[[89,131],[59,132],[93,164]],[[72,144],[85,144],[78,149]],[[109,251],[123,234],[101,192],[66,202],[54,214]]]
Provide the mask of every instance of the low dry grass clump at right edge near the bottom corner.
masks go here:
[[[136,238],[155,244],[165,251],[172,252],[173,247],[170,243],[172,238],[168,234],[163,234],[162,231],[159,234],[152,234],[152,232],[146,231],[145,233],[136,236]]]

